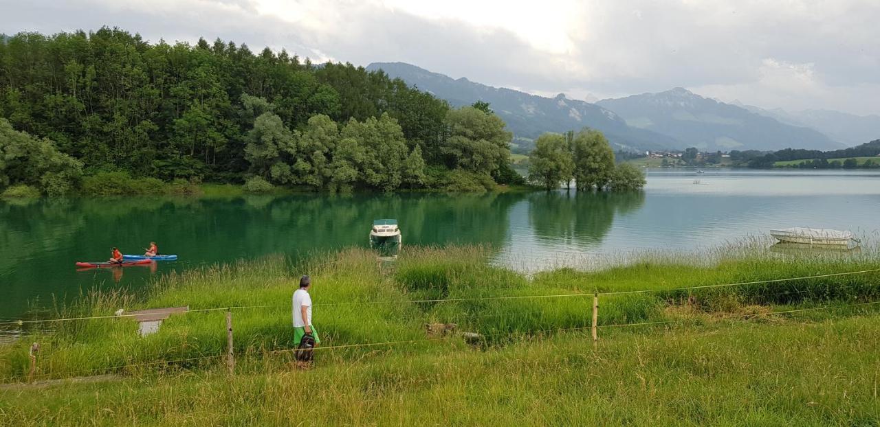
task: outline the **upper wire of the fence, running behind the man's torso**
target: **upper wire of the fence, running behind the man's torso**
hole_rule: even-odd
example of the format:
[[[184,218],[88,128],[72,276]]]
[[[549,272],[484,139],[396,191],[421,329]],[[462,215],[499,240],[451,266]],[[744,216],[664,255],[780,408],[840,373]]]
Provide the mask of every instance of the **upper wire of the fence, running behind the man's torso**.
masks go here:
[[[796,281],[796,280],[808,280],[808,279],[823,279],[830,277],[840,277],[840,276],[848,276],[855,274],[864,274],[869,272],[877,272],[880,271],[880,268],[870,269],[870,270],[862,270],[862,271],[844,271],[838,273],[828,273],[828,274],[818,274],[812,276],[802,276],[796,278],[783,278],[783,279],[765,279],[765,280],[754,280],[748,282],[737,282],[737,283],[726,283],[726,284],[718,284],[718,285],[702,285],[702,286],[684,286],[677,288],[669,288],[669,289],[640,289],[633,291],[612,291],[612,292],[601,292],[601,293],[554,293],[554,294],[543,294],[543,295],[502,295],[502,296],[487,296],[487,297],[470,297],[470,298],[438,298],[438,299],[423,299],[423,300],[378,300],[378,301],[348,301],[348,302],[328,302],[321,304],[322,307],[341,307],[341,306],[360,306],[360,305],[378,305],[378,304],[400,304],[400,303],[414,303],[414,304],[425,304],[425,303],[439,303],[439,302],[465,302],[465,301],[477,301],[477,300],[529,300],[529,299],[549,299],[549,298],[569,298],[569,297],[589,297],[593,295],[598,296],[609,296],[609,295],[627,295],[627,294],[636,294],[636,293],[675,293],[679,291],[688,291],[688,290],[696,290],[696,289],[709,289],[709,288],[719,288],[719,287],[730,287],[730,286],[746,286],[746,285],[759,285],[766,283],[779,283],[779,282],[788,282],[788,281]],[[221,310],[232,310],[232,309],[254,309],[254,308],[289,308],[289,304],[271,304],[271,305],[254,305],[254,306],[228,306],[228,307],[217,307],[217,308],[196,308],[192,310],[187,310],[185,312],[181,312],[178,314],[187,314],[187,313],[200,313],[200,312],[210,312],[210,311],[221,311]],[[36,319],[36,320],[16,320],[9,322],[0,322],[0,325],[23,325],[27,323],[45,323],[45,322],[69,322],[69,321],[79,321],[79,320],[92,320],[92,319],[113,319],[113,318],[125,318],[125,317],[136,317],[138,315],[96,315],[96,316],[82,316],[82,317],[67,317],[67,318],[56,318],[56,319]]]

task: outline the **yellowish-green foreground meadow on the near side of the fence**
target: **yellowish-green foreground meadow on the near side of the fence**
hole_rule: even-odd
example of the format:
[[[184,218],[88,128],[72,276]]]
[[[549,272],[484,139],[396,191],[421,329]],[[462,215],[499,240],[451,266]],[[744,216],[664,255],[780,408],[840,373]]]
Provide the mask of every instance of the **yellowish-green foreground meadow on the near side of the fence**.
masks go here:
[[[140,373],[0,391],[14,425],[876,425],[880,316],[602,329],[490,351]]]

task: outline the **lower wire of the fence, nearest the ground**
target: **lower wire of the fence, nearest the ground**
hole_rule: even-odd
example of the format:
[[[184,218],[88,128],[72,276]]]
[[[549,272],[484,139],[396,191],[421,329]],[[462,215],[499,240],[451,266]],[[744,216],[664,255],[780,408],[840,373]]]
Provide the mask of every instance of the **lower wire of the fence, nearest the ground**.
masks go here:
[[[869,302],[861,302],[861,303],[852,303],[852,304],[834,304],[834,305],[826,305],[823,307],[816,308],[797,308],[791,310],[783,310],[783,311],[774,311],[774,312],[765,312],[765,313],[750,313],[744,315],[727,315],[721,316],[718,320],[729,320],[729,319],[737,319],[744,317],[754,317],[761,315],[788,315],[793,313],[803,313],[809,311],[819,311],[819,310],[829,310],[836,308],[853,308],[853,307],[864,307],[870,305],[880,304],[880,300],[869,301]],[[656,321],[656,322],[635,322],[635,323],[613,323],[613,324],[605,324],[605,325],[590,325],[590,326],[582,326],[582,327],[570,327],[570,328],[551,328],[551,329],[530,329],[523,331],[504,331],[504,332],[496,332],[496,333],[488,333],[488,334],[480,334],[479,337],[485,341],[486,337],[524,337],[526,335],[533,335],[538,333],[545,332],[568,332],[568,331],[577,331],[577,330],[586,330],[592,329],[594,326],[596,328],[607,329],[607,328],[632,328],[638,326],[656,326],[661,324],[684,324],[686,322],[693,322],[693,319],[676,319],[676,320],[667,320],[667,321]],[[365,348],[365,347],[378,347],[378,346],[393,346],[399,344],[416,344],[416,343],[428,343],[428,342],[440,342],[440,341],[449,341],[453,337],[457,337],[457,334],[447,334],[444,337],[429,337],[429,338],[421,338],[421,339],[409,339],[409,340],[398,340],[398,341],[385,341],[378,343],[357,343],[357,344],[339,344],[339,345],[328,345],[328,346],[318,346],[315,347],[315,351],[328,351],[328,350],[343,350],[343,349],[355,349],[355,348]],[[271,351],[246,351],[244,354],[246,356],[253,356],[254,354],[282,354],[288,352],[295,352],[298,349],[296,348],[285,348],[285,349],[277,349]],[[178,358],[172,360],[157,360],[150,362],[141,362],[135,364],[128,365],[114,365],[100,368],[92,368],[92,369],[84,369],[84,370],[76,370],[76,371],[62,371],[62,372],[50,372],[50,373],[36,373],[32,376],[32,379],[45,379],[52,376],[63,376],[68,375],[68,377],[62,378],[70,378],[70,375],[82,374],[82,373],[110,373],[114,371],[120,371],[122,369],[127,368],[135,368],[135,367],[144,367],[151,365],[175,365],[183,362],[191,362],[196,360],[206,360],[210,358],[224,358],[227,357],[227,354],[215,354],[215,355],[206,355],[199,356],[194,358]],[[26,375],[19,376],[10,376],[5,378],[0,378],[0,383],[9,383],[11,380],[22,380],[26,378]]]

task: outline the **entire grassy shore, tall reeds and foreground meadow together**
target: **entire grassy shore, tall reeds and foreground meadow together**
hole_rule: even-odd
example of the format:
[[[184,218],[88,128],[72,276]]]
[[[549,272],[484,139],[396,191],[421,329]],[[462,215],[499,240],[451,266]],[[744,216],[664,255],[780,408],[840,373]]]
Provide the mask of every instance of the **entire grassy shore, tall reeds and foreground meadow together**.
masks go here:
[[[219,358],[223,310],[172,316],[145,338],[121,319],[59,322],[0,347],[4,382],[26,375],[31,341],[42,346],[41,380],[122,380],[0,388],[0,424],[289,425],[304,414],[325,425],[880,421],[880,305],[868,304],[880,300],[880,272],[681,289],[877,269],[874,248],[799,257],[752,242],[696,263],[695,255],[646,254],[626,266],[532,277],[491,266],[491,253],[407,248],[393,265],[366,250],[297,265],[268,257],[168,276],[140,297],[92,293],[58,315],[250,307],[232,310],[236,373]],[[304,272],[325,348],[299,372],[287,365],[289,304]],[[652,292],[600,297],[594,351],[592,293],[636,290]],[[561,294],[574,296],[509,298]],[[773,314],[825,307],[833,308]],[[429,322],[457,323],[483,340],[472,348],[458,335],[437,339],[426,334]],[[646,322],[659,323],[627,326]],[[392,341],[411,342],[345,347]],[[173,362],[191,358],[202,359]]]

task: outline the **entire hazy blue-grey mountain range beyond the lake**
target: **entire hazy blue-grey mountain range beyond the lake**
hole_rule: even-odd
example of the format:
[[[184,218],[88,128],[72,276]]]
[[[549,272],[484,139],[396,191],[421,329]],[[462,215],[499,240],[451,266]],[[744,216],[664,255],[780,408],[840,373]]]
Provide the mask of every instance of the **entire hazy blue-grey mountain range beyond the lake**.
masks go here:
[[[547,98],[474,83],[465,77],[453,79],[403,62],[375,62],[367,69],[382,69],[453,106],[488,102],[513,132],[519,151],[528,151],[531,140],[544,132],[582,127],[596,128],[615,148],[631,151],[837,149],[880,137],[880,118],[876,116],[763,110],[725,104],[682,88],[590,103],[563,94]]]

